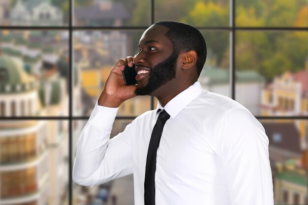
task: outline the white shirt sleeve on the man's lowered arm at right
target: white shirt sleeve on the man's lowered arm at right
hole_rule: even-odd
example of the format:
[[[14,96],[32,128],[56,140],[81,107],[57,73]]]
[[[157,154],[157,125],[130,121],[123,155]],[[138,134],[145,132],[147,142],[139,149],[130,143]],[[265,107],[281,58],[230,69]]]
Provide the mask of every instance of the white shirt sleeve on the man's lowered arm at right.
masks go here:
[[[218,123],[217,146],[232,205],[274,205],[269,140],[261,123],[242,108]]]

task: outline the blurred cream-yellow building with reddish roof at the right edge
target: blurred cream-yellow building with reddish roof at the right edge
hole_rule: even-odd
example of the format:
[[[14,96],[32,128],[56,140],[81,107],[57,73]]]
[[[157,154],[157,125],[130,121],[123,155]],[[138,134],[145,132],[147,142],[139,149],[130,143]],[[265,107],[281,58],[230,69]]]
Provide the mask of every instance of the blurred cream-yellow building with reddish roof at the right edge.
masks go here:
[[[262,116],[307,116],[307,70],[286,72],[262,90]],[[300,132],[302,148],[306,148],[306,120],[276,120],[294,122]]]

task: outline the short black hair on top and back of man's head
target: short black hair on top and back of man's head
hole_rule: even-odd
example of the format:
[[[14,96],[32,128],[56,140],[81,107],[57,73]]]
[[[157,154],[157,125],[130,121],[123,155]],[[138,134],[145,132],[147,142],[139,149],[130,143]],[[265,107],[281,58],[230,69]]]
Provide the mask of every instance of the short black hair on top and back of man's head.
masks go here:
[[[166,37],[172,42],[174,52],[178,52],[178,54],[189,50],[197,52],[196,67],[199,77],[207,57],[207,47],[201,32],[193,26],[177,21],[159,21],[154,25],[161,25],[169,29]]]

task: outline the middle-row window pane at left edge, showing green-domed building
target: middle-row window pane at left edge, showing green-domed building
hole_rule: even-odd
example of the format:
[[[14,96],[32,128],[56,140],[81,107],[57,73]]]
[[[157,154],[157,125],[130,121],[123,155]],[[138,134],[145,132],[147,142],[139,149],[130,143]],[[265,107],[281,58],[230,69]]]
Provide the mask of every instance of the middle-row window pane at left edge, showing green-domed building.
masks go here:
[[[0,31],[1,116],[67,116],[67,50],[67,31]]]

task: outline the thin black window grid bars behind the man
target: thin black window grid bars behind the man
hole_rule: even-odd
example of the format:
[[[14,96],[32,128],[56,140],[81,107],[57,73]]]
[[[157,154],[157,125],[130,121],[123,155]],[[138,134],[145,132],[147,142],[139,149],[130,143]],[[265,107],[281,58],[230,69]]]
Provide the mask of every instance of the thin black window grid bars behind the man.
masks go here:
[[[69,85],[69,103],[68,103],[68,116],[63,117],[1,117],[0,120],[68,120],[69,121],[69,139],[68,139],[68,151],[69,151],[69,161],[68,161],[68,204],[72,205],[72,133],[73,133],[73,124],[72,122],[74,120],[88,120],[90,116],[73,116],[73,102],[72,102],[72,96],[73,96],[73,75],[72,75],[72,66],[73,66],[73,31],[78,30],[145,30],[148,29],[148,26],[124,26],[124,27],[111,27],[111,26],[105,26],[105,27],[91,27],[91,26],[73,26],[73,1],[74,0],[68,0],[69,1],[69,15],[68,15],[68,25],[67,26],[1,26],[0,25],[0,31],[1,30],[59,30],[59,31],[68,31],[69,34],[69,42],[68,42],[68,51],[69,51],[69,67],[68,67],[68,85]],[[154,24],[154,0],[151,1],[151,16],[150,16],[150,25]],[[235,0],[230,0],[230,26],[229,27],[196,27],[197,29],[207,30],[207,31],[229,31],[230,32],[230,50],[231,50],[231,63],[230,63],[230,91],[231,91],[231,97],[232,99],[235,99],[236,96],[236,90],[235,90],[235,39],[236,39],[236,31],[307,31],[308,32],[308,26],[307,27],[236,27],[235,25],[235,13],[236,7],[235,7]],[[149,26],[150,26],[149,25]],[[307,45],[308,46],[308,45]],[[151,96],[151,105],[150,109],[153,110],[154,108],[154,97]],[[121,119],[128,119],[133,120],[137,116],[117,116],[115,120],[121,120]],[[261,119],[302,119],[302,120],[308,120],[308,116],[254,116],[258,120]],[[308,130],[308,129],[307,129]],[[307,170],[308,171],[308,170]],[[308,173],[308,172],[307,172]],[[308,178],[308,177],[307,177]],[[308,184],[307,184],[308,187]],[[307,191],[308,196],[308,191]]]

